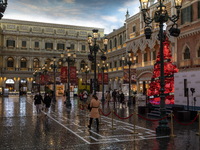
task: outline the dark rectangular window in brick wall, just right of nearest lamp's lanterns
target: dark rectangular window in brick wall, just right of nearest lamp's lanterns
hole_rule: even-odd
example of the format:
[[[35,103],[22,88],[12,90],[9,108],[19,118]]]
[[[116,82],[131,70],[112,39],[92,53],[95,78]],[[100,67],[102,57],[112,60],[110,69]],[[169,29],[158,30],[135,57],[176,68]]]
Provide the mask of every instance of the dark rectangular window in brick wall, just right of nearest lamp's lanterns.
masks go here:
[[[192,5],[181,10],[181,24],[185,24],[186,22],[192,22]]]

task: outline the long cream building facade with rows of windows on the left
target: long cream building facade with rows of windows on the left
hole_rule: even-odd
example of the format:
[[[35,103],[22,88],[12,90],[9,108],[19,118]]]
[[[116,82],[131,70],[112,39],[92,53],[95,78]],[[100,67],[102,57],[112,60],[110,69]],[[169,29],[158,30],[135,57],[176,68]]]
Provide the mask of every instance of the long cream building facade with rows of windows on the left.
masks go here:
[[[92,34],[92,27],[58,25],[40,22],[2,19],[0,22],[0,87],[6,90],[28,92],[33,89],[33,73],[47,64],[48,71],[53,57],[56,65],[61,60],[61,53],[69,46],[70,53],[76,53],[75,66],[78,71],[86,64],[89,48],[87,37]],[[104,36],[104,29],[99,30],[99,37]],[[101,40],[98,40],[101,44]],[[65,53],[65,52],[64,52]],[[62,64],[66,65],[66,64]],[[60,68],[56,69],[57,72]],[[81,72],[78,76],[81,79]],[[42,88],[42,87],[41,87]]]

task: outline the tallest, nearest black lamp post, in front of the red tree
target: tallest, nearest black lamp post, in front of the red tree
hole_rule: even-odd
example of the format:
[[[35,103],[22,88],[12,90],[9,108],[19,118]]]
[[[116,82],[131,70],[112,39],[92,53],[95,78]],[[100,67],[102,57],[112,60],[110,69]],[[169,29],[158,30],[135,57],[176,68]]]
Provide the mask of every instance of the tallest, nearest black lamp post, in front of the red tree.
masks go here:
[[[177,21],[179,19],[180,15],[180,9],[182,7],[182,0],[174,0],[174,5],[177,10],[177,14],[170,17],[168,15],[168,12],[166,10],[166,6],[163,4],[164,0],[158,1],[158,7],[155,11],[154,17],[150,18],[148,14],[148,4],[149,0],[140,0],[141,4],[141,11],[143,13],[143,18],[145,22],[145,35],[147,39],[150,39],[151,37],[151,26],[150,24],[155,21],[156,23],[159,23],[159,40],[160,40],[160,117],[163,118],[166,116],[166,108],[165,108],[165,77],[164,77],[164,55],[163,55],[163,42],[165,40],[165,36],[163,33],[163,24],[168,21],[172,21],[174,24],[172,25],[172,28],[169,30],[170,35],[172,36],[179,36],[180,30],[177,28]],[[174,28],[174,25],[176,28]],[[168,135],[170,134],[170,128],[168,127],[168,122],[166,119],[163,119],[159,122],[159,126],[156,128],[157,134],[162,135]]]

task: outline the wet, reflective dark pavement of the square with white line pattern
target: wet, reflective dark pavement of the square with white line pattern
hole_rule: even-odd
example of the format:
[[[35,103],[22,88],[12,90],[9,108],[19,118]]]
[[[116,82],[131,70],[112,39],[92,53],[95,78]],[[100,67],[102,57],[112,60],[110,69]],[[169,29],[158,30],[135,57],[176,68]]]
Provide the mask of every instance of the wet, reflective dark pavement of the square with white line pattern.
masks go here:
[[[197,121],[188,125],[174,122],[176,137],[157,136],[155,129],[158,121],[141,119],[132,115],[133,107],[119,105],[112,119],[110,112],[113,106],[105,105],[100,130],[96,130],[95,121],[89,130],[88,111],[79,109],[77,99],[71,100],[71,103],[72,107],[66,108],[63,98],[57,98],[47,115],[44,112],[37,115],[31,97],[1,98],[0,150],[200,149],[200,136],[196,135],[199,129]]]

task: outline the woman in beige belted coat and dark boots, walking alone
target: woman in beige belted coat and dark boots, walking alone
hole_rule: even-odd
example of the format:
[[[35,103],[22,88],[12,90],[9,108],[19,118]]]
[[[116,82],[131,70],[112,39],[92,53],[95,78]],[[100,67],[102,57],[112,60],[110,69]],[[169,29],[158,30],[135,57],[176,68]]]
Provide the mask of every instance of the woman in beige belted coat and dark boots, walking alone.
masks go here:
[[[100,107],[101,102],[98,100],[98,97],[96,95],[92,95],[92,99],[90,101],[90,107],[91,107],[91,111],[90,111],[90,121],[89,121],[89,125],[88,128],[91,129],[92,126],[92,120],[93,118],[96,119],[96,123],[97,123],[97,131],[99,131],[99,107]]]

